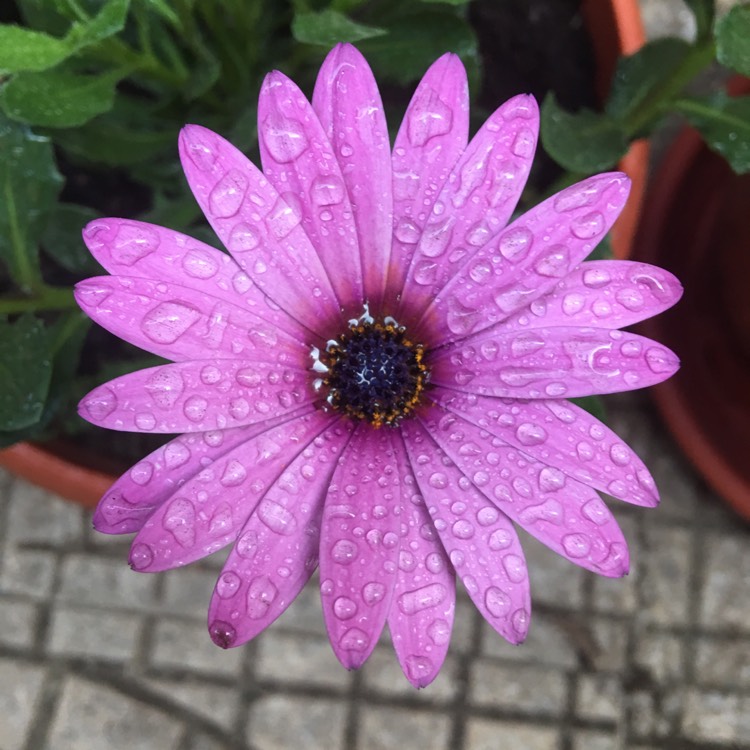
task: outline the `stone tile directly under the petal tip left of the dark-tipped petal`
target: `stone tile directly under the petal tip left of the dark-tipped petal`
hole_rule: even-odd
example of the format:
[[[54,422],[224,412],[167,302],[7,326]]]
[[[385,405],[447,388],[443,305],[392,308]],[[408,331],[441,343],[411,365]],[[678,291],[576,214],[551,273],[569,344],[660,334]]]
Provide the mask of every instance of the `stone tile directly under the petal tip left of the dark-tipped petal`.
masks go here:
[[[112,609],[154,610],[156,577],[135,573],[125,560],[74,554],[63,562],[60,601]]]

